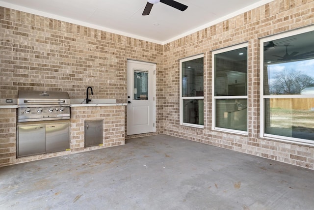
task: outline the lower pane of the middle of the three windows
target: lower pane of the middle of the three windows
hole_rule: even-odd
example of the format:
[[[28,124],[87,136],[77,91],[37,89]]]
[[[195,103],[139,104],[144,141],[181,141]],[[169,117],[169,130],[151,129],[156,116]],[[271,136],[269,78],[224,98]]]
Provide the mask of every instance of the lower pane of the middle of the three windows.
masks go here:
[[[216,99],[216,127],[247,131],[247,99]]]

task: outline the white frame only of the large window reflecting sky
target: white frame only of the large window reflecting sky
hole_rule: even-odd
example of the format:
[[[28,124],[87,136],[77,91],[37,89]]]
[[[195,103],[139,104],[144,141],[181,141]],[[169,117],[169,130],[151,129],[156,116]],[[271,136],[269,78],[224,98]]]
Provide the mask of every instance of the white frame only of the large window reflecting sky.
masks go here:
[[[272,99],[272,98],[314,98],[314,94],[308,94],[308,95],[297,95],[297,94],[283,94],[283,95],[264,95],[264,52],[263,52],[263,45],[264,42],[269,42],[276,39],[286,38],[293,35],[298,35],[305,32],[314,31],[314,26],[292,30],[283,32],[277,35],[271,35],[260,39],[260,137],[261,138],[267,138],[267,139],[273,139],[273,140],[280,140],[283,142],[289,142],[289,143],[303,143],[307,145],[313,145],[313,140],[308,139],[300,139],[295,137],[287,137],[287,136],[280,136],[280,135],[274,135],[274,134],[267,134],[265,133],[265,99]]]

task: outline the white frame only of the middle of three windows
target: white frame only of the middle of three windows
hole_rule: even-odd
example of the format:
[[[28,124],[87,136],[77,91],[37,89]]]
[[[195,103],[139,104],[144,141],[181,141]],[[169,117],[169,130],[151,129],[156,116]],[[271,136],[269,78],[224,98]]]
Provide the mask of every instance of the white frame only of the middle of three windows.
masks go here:
[[[241,130],[222,128],[222,127],[216,126],[216,99],[246,99],[247,105],[248,105],[248,91],[247,91],[246,95],[215,96],[215,94],[214,94],[214,92],[215,92],[215,55],[220,54],[220,53],[224,53],[224,52],[228,52],[228,51],[232,51],[232,50],[236,50],[239,48],[244,48],[244,47],[248,48],[248,42],[212,51],[212,54],[211,54],[212,55],[212,78],[211,78],[212,79],[211,80],[212,81],[211,82],[211,86],[212,86],[211,87],[211,90],[212,90],[212,109],[211,109],[212,123],[211,123],[211,128],[212,128],[212,130],[248,135],[248,131],[241,131]],[[246,71],[246,81],[247,81],[246,88],[247,88],[247,90],[248,90],[248,61],[249,60],[248,60],[248,53],[247,53],[247,71]],[[248,114],[247,114],[246,127],[248,130]]]

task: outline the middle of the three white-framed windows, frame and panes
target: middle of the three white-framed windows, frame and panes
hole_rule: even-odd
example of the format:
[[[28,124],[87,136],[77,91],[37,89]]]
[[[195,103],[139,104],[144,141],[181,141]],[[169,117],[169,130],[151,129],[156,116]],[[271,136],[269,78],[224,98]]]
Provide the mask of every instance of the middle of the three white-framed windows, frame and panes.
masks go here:
[[[214,51],[212,128],[247,133],[247,44]]]

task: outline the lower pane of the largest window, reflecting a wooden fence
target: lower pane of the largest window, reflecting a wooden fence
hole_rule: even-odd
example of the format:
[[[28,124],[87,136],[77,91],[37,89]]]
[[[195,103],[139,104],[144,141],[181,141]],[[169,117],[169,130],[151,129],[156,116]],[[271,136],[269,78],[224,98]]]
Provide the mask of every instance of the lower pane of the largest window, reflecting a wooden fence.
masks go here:
[[[314,98],[265,99],[265,133],[314,140]]]

